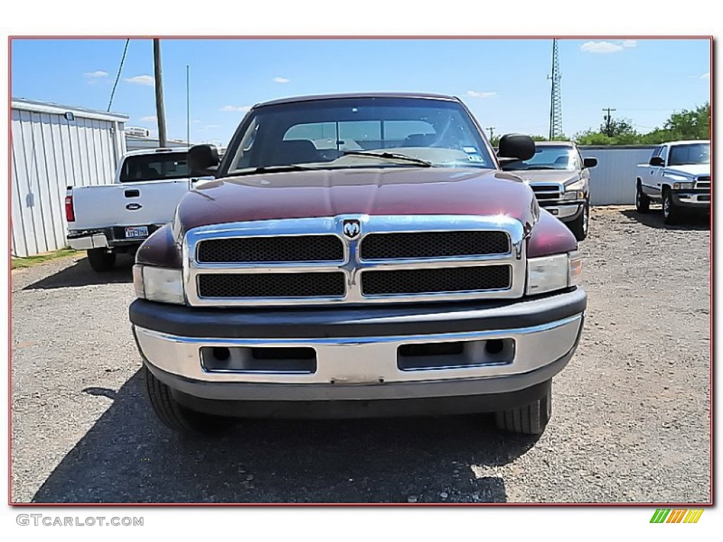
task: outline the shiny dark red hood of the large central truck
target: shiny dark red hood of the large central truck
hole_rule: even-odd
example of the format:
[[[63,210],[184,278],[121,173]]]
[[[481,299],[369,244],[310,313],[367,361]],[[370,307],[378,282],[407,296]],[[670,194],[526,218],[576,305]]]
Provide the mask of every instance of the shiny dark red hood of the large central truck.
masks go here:
[[[247,220],[362,215],[506,215],[526,231],[534,194],[495,170],[356,168],[262,173],[209,181],[179,206],[181,230]]]

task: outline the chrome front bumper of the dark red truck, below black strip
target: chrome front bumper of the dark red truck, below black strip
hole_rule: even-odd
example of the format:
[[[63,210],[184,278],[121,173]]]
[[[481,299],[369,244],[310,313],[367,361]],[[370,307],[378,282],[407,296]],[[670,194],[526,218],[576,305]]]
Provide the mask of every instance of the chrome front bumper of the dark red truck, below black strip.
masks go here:
[[[583,315],[513,329],[383,337],[244,339],[181,337],[134,325],[148,368],[169,387],[195,397],[223,400],[369,400],[513,392],[551,378],[567,363],[581,333]],[[400,369],[403,345],[508,340],[504,363]],[[208,371],[205,347],[313,348],[312,373]],[[562,362],[562,363],[560,363]],[[554,366],[554,368],[553,368]],[[549,368],[549,370],[545,370]],[[533,376],[537,375],[537,376]],[[509,385],[500,387],[508,379]],[[414,385],[419,384],[419,385]]]

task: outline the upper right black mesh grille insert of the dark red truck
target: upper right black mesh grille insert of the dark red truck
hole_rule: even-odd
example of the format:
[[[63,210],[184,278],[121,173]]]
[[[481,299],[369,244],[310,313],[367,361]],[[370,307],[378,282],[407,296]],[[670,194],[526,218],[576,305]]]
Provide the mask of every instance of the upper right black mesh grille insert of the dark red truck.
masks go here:
[[[361,259],[404,259],[505,254],[510,238],[503,231],[370,233],[359,244]]]

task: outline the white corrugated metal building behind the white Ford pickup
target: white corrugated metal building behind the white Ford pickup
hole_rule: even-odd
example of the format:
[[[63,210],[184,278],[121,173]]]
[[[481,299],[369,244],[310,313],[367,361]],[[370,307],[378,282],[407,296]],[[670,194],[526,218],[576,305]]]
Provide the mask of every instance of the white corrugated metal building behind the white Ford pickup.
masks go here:
[[[126,115],[12,99],[12,254],[65,246],[67,186],[110,184]]]

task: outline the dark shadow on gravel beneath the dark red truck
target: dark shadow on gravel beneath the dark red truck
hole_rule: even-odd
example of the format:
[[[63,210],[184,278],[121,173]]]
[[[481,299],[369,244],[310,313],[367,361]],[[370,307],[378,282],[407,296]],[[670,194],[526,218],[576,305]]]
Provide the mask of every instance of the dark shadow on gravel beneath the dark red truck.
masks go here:
[[[84,392],[113,404],[33,502],[506,502],[495,467],[537,440],[501,434],[488,416],[251,420],[184,439],[151,412],[142,371],[98,390]]]

